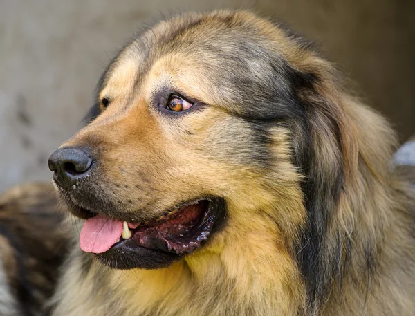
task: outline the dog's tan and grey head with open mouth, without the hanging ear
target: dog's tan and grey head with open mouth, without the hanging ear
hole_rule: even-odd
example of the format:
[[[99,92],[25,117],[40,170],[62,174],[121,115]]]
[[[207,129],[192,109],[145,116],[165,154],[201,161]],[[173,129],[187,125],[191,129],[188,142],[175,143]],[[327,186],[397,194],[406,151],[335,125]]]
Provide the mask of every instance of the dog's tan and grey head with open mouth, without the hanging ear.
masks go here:
[[[331,96],[320,102],[319,60],[244,12],[178,17],[133,39],[100,80],[96,118],[50,157],[69,210],[88,219],[82,249],[160,268],[263,221],[301,239],[313,191],[302,179],[340,155],[335,111],[320,115]],[[310,162],[313,121],[329,145]]]

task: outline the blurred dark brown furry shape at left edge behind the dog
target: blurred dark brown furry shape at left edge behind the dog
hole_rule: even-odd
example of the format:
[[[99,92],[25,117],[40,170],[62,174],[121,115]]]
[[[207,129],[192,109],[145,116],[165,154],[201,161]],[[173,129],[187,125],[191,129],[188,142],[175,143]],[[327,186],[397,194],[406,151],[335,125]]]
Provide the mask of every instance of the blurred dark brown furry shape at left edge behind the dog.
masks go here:
[[[52,185],[15,187],[0,196],[0,315],[47,315],[67,250]],[[12,297],[12,301],[10,301]]]

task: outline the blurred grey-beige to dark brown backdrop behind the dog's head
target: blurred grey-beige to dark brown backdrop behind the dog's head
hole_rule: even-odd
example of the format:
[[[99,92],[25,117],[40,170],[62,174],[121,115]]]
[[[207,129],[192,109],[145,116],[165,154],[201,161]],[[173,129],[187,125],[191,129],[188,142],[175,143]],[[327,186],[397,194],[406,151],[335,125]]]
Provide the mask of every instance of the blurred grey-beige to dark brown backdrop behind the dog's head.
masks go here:
[[[0,0],[0,191],[50,180],[109,59],[135,30],[187,10],[251,8],[312,39],[403,141],[415,133],[414,0]]]

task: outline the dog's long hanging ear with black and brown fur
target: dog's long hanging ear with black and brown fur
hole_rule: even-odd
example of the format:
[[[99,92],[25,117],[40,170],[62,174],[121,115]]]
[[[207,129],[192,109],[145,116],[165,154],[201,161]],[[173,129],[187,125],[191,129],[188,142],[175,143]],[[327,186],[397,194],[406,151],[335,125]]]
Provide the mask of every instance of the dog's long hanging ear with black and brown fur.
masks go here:
[[[344,187],[356,175],[358,150],[334,71],[322,59],[308,65],[315,68],[291,67],[288,73],[303,113],[293,122],[294,159],[304,174],[307,211],[297,260],[310,304],[318,305],[329,294],[333,279],[343,273],[344,244],[332,227]]]

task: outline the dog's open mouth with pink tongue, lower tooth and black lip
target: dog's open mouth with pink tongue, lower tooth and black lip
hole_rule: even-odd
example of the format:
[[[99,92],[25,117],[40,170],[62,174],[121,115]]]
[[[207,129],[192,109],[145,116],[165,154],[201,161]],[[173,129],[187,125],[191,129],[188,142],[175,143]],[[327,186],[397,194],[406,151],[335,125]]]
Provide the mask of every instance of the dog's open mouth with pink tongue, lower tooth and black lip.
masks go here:
[[[80,247],[113,268],[160,268],[197,250],[225,217],[223,198],[209,198],[144,223],[95,215],[80,232]]]

